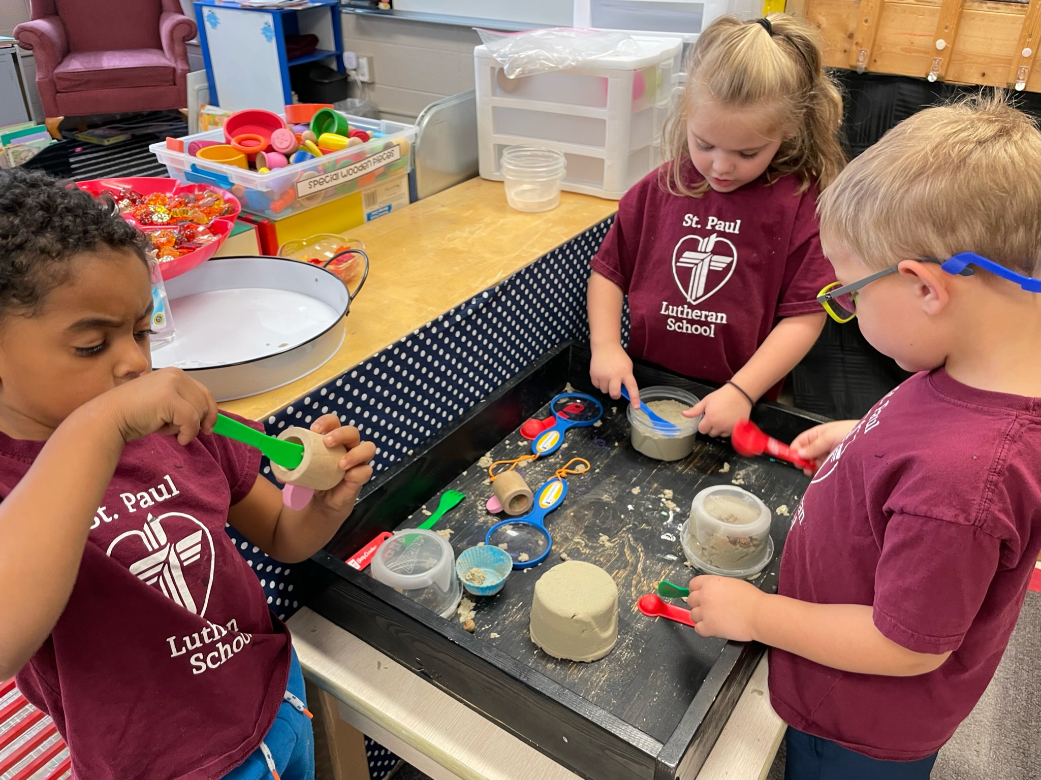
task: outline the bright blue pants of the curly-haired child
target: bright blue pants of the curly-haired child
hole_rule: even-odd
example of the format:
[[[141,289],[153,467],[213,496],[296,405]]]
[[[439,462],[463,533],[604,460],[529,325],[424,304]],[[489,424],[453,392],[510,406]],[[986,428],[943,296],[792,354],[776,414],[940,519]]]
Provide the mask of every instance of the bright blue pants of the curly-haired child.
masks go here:
[[[304,675],[300,670],[297,651],[293,651],[293,664],[289,667],[289,680],[286,690],[307,703],[304,693]],[[264,735],[264,745],[275,759],[275,766],[282,780],[314,780],[314,732],[311,731],[311,719],[294,709],[289,702],[282,706],[275,716],[275,723]],[[260,749],[253,751],[249,757],[224,776],[224,780],[273,780],[268,761]]]

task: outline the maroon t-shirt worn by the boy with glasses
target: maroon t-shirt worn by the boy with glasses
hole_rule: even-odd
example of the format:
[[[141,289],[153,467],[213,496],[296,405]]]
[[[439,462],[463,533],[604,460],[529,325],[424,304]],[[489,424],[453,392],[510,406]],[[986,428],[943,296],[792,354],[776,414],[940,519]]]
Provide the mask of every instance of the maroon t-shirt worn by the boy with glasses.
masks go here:
[[[869,604],[917,677],[770,650],[770,701],[802,731],[886,760],[928,756],[983,695],[1041,549],[1041,398],[915,374],[832,452],[792,518],[779,592]]]

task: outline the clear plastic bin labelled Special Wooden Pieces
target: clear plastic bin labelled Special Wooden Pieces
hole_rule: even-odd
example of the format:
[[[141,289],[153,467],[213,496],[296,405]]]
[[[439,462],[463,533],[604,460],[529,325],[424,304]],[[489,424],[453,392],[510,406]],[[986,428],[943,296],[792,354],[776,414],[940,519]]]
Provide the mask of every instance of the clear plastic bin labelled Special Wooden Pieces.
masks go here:
[[[382,137],[268,174],[193,157],[186,151],[168,149],[166,142],[153,144],[149,150],[172,178],[214,184],[235,194],[243,211],[284,219],[412,170],[412,145],[418,134],[415,125],[361,116],[347,119],[352,128],[381,133]],[[187,135],[180,140],[185,150],[193,140],[223,144],[224,130]]]

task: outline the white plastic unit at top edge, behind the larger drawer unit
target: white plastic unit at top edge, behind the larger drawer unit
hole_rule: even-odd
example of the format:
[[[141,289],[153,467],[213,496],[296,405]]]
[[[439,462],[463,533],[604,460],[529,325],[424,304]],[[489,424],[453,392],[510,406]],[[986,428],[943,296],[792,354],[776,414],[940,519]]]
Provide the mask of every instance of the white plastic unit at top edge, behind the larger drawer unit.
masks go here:
[[[752,19],[762,7],[761,0],[575,0],[574,25],[679,35],[691,43],[716,17]]]

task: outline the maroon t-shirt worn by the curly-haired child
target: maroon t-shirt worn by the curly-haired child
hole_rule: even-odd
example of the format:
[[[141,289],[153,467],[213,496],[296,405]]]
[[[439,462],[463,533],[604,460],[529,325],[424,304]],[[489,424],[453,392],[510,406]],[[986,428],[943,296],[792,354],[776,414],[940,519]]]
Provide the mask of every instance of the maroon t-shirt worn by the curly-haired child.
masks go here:
[[[0,434],[0,497],[42,448]],[[225,532],[259,461],[222,436],[182,447],[152,435],[123,451],[69,603],[18,675],[77,778],[213,780],[271,728],[288,633]]]

